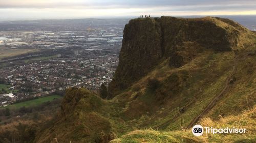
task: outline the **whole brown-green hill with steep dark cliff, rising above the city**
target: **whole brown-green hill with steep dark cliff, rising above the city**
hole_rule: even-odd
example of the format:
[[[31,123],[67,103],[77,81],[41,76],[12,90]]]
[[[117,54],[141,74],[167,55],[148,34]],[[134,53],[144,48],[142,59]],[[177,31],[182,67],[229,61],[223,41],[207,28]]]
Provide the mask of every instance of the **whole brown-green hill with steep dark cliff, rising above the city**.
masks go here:
[[[254,33],[229,19],[133,19],[124,28],[110,100],[84,88],[68,89],[61,111],[35,142],[127,142],[141,134],[145,140],[151,134],[207,140],[181,130],[204,123],[203,117],[214,124],[220,116],[254,111],[255,43]],[[255,139],[255,128],[249,130]]]

